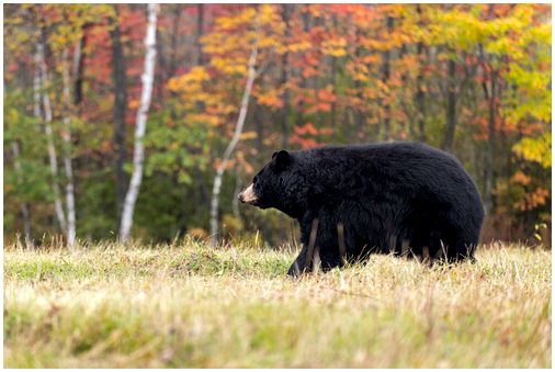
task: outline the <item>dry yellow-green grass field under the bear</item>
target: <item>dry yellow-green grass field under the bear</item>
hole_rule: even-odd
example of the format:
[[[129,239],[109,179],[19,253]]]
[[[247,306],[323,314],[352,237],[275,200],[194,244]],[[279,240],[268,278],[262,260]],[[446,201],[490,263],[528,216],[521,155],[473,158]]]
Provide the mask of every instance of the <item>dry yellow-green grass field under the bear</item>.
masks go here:
[[[133,246],[133,245],[132,245]],[[374,256],[291,280],[293,252],[4,248],[5,368],[551,368],[551,251],[429,268]]]

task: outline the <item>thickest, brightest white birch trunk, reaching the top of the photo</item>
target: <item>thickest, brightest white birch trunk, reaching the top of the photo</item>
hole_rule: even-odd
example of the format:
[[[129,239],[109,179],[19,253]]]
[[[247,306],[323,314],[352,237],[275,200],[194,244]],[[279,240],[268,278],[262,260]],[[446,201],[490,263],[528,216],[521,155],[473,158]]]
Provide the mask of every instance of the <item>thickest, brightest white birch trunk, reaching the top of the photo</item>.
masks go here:
[[[148,24],[145,37],[145,71],[141,76],[143,91],[140,93],[140,105],[137,111],[135,126],[135,148],[133,153],[133,174],[129,181],[129,188],[125,195],[123,205],[122,221],[120,224],[120,239],[126,241],[129,238],[133,226],[133,212],[143,179],[143,164],[145,160],[145,148],[143,137],[146,132],[147,114],[150,106],[150,98],[152,95],[152,86],[155,79],[156,64],[156,23],[158,15],[158,4],[148,4]]]

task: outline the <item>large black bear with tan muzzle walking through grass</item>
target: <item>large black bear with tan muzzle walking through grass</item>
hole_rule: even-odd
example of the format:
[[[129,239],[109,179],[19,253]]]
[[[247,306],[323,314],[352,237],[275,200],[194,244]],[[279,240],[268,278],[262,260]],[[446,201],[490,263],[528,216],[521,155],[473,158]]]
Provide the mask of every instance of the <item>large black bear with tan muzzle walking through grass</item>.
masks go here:
[[[381,252],[474,260],[484,219],[476,184],[450,154],[420,143],[275,151],[239,200],[301,224],[297,275]]]

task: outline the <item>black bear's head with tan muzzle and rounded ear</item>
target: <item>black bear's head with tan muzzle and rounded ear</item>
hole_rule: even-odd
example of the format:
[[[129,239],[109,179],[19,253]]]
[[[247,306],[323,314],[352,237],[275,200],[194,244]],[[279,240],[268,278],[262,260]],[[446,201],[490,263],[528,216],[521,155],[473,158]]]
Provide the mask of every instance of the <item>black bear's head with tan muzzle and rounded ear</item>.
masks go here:
[[[237,198],[242,203],[263,210],[273,207],[297,218],[306,204],[307,187],[296,162],[293,154],[286,150],[273,153],[272,160]]]

